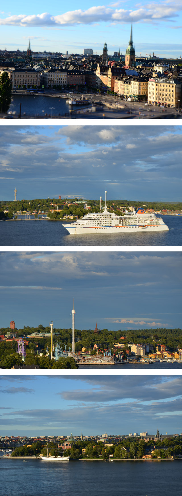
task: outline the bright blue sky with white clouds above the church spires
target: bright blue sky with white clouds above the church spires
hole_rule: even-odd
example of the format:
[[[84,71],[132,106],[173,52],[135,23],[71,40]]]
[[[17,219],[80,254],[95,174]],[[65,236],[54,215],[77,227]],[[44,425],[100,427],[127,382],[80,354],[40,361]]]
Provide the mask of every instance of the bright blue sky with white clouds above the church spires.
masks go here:
[[[4,4],[6,7],[6,4]],[[101,54],[107,42],[108,54],[125,53],[133,19],[136,55],[180,58],[182,55],[182,1],[143,0],[58,1],[9,0],[0,12],[0,49],[83,53],[92,48]]]

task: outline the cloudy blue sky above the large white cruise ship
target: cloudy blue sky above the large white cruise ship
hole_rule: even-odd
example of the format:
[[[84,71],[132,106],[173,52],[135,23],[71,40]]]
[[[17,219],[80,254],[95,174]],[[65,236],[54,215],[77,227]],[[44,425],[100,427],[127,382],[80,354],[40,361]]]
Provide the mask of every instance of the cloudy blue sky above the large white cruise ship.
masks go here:
[[[182,201],[179,125],[0,126],[0,199]]]

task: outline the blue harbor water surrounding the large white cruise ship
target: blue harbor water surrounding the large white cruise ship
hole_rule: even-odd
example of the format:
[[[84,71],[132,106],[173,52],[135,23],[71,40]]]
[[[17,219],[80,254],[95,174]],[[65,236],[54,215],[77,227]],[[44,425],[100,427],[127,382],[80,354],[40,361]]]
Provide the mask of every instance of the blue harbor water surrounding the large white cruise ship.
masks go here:
[[[70,235],[58,220],[22,219],[0,222],[0,246],[182,246],[182,216],[162,216],[169,231]]]

